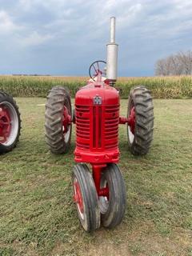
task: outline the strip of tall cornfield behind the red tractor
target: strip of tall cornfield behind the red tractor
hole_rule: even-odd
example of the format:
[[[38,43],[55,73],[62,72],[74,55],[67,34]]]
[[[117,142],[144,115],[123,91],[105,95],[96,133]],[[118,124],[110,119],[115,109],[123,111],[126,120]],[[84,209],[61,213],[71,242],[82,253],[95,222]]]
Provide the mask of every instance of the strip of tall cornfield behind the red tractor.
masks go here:
[[[85,86],[87,77],[0,76],[0,90],[14,97],[46,97],[51,87],[66,86],[74,97]],[[118,78],[116,88],[121,98],[127,98],[134,86],[146,86],[154,98],[192,98],[192,76]]]

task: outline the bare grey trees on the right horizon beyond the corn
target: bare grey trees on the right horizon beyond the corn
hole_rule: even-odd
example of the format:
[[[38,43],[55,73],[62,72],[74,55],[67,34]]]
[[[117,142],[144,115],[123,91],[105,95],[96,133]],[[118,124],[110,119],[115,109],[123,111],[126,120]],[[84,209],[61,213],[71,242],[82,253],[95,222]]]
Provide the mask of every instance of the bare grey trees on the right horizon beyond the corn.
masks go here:
[[[155,75],[191,75],[192,51],[178,52],[159,59],[155,64]]]

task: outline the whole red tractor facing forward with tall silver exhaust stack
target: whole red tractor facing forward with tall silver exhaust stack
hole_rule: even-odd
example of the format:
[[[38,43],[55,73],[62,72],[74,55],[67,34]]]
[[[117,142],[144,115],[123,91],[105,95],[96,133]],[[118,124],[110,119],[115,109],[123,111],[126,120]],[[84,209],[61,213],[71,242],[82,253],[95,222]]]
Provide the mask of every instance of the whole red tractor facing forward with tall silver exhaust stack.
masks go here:
[[[76,125],[74,202],[86,231],[98,229],[101,222],[102,226],[113,228],[122,222],[125,214],[126,187],[117,165],[118,125],[127,125],[132,154],[146,154],[153,138],[153,102],[145,87],[131,90],[127,117],[119,116],[120,98],[114,88],[117,61],[113,17],[106,62],[94,62],[90,66],[90,81],[75,95],[74,111],[69,91],[62,86],[50,90],[46,102],[46,142],[51,152],[60,154],[69,150],[72,123]]]

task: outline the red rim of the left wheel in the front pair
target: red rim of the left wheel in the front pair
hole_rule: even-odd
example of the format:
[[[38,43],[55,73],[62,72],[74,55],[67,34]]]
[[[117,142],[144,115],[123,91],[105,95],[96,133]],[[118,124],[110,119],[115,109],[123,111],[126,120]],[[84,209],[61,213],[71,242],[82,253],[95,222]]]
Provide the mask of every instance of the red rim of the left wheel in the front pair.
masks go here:
[[[74,202],[78,207],[78,214],[80,215],[82,220],[84,220],[85,216],[84,216],[83,198],[82,198],[82,192],[78,184],[77,178],[74,178]]]

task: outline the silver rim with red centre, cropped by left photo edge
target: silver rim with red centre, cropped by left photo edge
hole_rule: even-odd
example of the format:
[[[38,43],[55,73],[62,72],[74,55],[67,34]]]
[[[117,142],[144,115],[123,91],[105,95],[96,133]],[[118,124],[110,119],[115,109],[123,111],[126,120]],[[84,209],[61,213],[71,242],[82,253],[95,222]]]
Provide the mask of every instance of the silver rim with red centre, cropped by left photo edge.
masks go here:
[[[10,146],[18,136],[18,114],[10,102],[0,106],[0,143]]]

